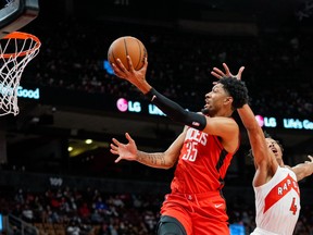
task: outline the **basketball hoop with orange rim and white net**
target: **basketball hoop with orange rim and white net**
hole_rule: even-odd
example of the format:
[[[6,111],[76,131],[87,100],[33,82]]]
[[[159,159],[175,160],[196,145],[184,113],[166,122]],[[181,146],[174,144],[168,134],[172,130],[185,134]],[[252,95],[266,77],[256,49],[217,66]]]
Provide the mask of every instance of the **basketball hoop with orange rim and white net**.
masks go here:
[[[39,52],[40,40],[27,33],[13,32],[0,39],[0,116],[17,115],[17,88],[25,66]]]

